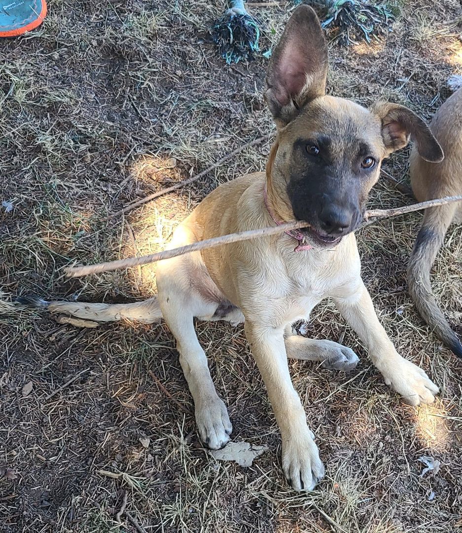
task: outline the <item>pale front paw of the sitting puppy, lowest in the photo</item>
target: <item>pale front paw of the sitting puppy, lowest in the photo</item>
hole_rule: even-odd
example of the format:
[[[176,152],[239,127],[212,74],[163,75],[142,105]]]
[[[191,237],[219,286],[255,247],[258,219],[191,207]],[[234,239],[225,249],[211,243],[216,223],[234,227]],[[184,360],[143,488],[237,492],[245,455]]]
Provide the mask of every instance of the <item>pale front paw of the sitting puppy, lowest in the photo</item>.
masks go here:
[[[324,477],[324,465],[311,435],[307,428],[306,433],[298,437],[283,439],[282,469],[295,490],[313,490]]]

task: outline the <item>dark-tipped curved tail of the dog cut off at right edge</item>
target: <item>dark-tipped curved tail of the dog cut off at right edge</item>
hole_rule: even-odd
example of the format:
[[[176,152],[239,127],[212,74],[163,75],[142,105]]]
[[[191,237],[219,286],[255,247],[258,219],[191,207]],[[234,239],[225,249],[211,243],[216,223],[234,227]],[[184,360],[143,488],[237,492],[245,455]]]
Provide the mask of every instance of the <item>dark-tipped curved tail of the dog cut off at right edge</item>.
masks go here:
[[[462,344],[436,303],[430,284],[430,269],[455,212],[454,204],[426,209],[408,266],[409,293],[422,318],[457,357],[462,358]]]

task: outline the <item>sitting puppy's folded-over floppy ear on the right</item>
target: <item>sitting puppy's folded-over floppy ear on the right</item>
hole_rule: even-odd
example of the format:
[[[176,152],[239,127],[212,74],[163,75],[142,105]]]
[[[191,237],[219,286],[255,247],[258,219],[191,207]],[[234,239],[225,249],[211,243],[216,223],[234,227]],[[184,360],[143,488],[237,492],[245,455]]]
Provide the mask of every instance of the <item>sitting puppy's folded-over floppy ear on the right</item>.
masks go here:
[[[440,144],[430,128],[413,111],[387,102],[376,103],[370,111],[382,122],[382,138],[388,154],[405,147],[411,138],[417,145],[420,157],[431,163],[443,160]]]

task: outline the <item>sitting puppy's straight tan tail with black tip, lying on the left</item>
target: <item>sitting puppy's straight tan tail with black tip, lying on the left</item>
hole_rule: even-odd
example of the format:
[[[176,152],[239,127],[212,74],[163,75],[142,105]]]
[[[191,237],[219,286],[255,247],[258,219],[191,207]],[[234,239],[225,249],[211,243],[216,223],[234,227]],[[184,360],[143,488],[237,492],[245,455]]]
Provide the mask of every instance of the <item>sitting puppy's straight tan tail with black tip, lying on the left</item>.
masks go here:
[[[38,296],[21,296],[18,303],[36,308],[47,309],[51,313],[67,313],[73,317],[94,320],[95,322],[112,322],[133,320],[151,324],[162,318],[157,298],[149,298],[135,303],[86,303],[86,302],[47,302]]]

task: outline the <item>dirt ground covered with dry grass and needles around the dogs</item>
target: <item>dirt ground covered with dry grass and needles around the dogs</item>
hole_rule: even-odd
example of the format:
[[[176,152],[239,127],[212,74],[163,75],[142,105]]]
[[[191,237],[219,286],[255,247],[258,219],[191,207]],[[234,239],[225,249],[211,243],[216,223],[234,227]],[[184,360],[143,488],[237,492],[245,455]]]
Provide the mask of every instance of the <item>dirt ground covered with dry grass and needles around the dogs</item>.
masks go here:
[[[272,4],[250,8],[262,51],[293,8]],[[268,447],[251,467],[217,462],[201,446],[165,326],[78,329],[10,308],[28,293],[105,302],[155,294],[153,265],[72,281],[61,269],[162,249],[219,183],[263,169],[270,143],[126,217],[108,215],[274,129],[261,96],[267,60],[228,67],[207,43],[224,2],[52,0],[49,8],[41,27],[0,49],[0,201],[12,203],[0,208],[0,531],[460,530],[461,362],[417,316],[406,288],[420,214],[370,226],[358,242],[384,327],[442,393],[431,407],[403,405],[333,305],[316,308],[307,334],[351,346],[361,362],[348,375],[290,362],[326,465],[311,494],[283,480],[279,433],[242,328],[197,325],[234,440]],[[366,106],[379,97],[405,103],[428,120],[444,81],[462,74],[462,8],[459,0],[397,8],[385,39],[331,45],[329,92]],[[384,172],[406,182],[407,157],[400,151]],[[410,201],[381,181],[370,205]],[[461,237],[460,227],[449,230],[432,277],[455,327]],[[422,475],[422,456],[440,470]]]

